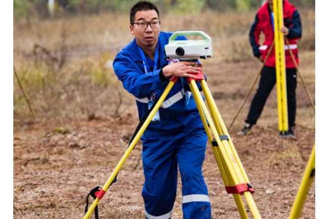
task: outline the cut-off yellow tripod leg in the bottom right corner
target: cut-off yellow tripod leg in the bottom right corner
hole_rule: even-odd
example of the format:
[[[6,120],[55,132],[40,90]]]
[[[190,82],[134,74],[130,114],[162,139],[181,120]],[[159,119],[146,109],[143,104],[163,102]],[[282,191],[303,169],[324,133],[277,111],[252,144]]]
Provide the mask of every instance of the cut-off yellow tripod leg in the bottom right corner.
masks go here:
[[[301,184],[298,189],[298,193],[296,195],[291,214],[289,216],[290,219],[297,219],[299,218],[304,202],[307,198],[307,193],[310,189],[311,183],[314,178],[314,171],[315,171],[315,145],[313,146],[310,159],[306,170],[304,171],[304,176],[302,178]]]

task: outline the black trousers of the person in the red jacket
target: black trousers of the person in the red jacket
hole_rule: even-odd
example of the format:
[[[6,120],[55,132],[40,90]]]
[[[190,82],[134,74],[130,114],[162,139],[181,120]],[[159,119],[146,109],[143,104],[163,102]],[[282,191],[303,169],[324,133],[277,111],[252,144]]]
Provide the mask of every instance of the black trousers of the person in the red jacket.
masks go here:
[[[296,68],[286,69],[287,82],[287,107],[288,107],[288,125],[295,126],[296,118],[296,87],[297,87],[297,71]],[[261,72],[259,88],[251,102],[250,109],[245,122],[250,125],[256,124],[260,118],[264,105],[276,83],[275,68],[265,66]]]

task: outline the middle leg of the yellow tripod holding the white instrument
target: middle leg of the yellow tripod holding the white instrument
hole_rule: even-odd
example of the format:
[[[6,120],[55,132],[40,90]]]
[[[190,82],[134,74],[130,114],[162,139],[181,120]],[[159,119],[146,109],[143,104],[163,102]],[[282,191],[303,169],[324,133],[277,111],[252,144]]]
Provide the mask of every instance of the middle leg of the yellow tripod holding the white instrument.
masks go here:
[[[191,87],[192,93],[194,95],[196,105],[197,105],[198,111],[200,113],[203,125],[205,127],[206,134],[208,136],[208,140],[210,142],[210,145],[212,146],[214,156],[216,158],[219,169],[221,171],[223,181],[224,181],[225,185],[236,185],[234,182],[238,182],[238,178],[236,177],[235,174],[232,174],[233,167],[231,165],[231,162],[229,161],[229,157],[222,152],[222,151],[224,151],[224,149],[223,149],[223,145],[222,145],[221,141],[219,141],[220,137],[217,133],[217,130],[215,128],[215,125],[214,125],[212,119],[209,116],[209,113],[207,111],[205,103],[198,91],[197,85],[194,80],[191,81],[190,87]],[[207,121],[206,121],[205,117],[207,118]],[[218,141],[214,141],[212,135],[210,134],[207,122],[209,123],[209,127],[211,127],[211,129],[212,129],[215,139],[218,139]],[[217,142],[218,145],[216,145],[214,142]],[[216,147],[220,147],[221,149],[218,150],[218,149],[216,149]],[[243,205],[241,195],[238,193],[235,193],[235,194],[233,194],[233,199],[235,199],[235,202],[236,202],[236,205],[237,205],[237,208],[238,208],[241,218],[247,219],[248,216],[247,216],[245,207]]]

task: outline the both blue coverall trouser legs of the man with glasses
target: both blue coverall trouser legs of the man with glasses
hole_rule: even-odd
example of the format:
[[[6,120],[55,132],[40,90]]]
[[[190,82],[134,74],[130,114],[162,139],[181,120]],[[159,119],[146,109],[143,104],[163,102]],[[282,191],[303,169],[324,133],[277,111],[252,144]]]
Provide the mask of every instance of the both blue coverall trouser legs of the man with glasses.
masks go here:
[[[177,165],[184,197],[183,218],[211,218],[208,191],[202,174],[206,142],[204,128],[195,125],[175,135],[144,140],[145,184],[142,194],[148,219],[171,215],[177,191]]]

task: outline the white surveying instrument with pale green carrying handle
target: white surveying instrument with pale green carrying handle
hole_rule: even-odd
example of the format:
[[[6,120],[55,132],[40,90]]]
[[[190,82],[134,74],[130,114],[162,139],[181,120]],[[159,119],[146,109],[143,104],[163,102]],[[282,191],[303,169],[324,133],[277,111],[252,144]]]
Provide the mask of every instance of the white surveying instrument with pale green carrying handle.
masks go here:
[[[178,36],[201,36],[201,40],[175,40]],[[213,57],[212,39],[203,31],[178,31],[169,38],[165,52],[169,59],[198,60]]]

